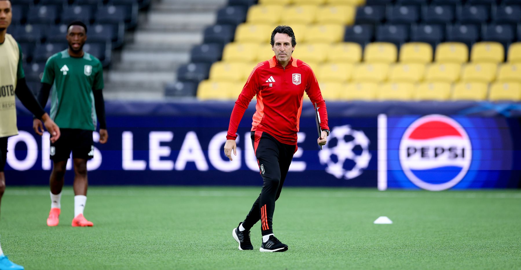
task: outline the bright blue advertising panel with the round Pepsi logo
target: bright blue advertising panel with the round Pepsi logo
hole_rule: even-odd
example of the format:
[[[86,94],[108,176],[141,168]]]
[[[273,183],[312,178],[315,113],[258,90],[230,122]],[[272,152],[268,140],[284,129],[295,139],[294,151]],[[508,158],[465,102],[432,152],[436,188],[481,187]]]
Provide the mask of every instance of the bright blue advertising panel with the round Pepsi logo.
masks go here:
[[[387,187],[517,188],[520,122],[430,114],[387,119]]]

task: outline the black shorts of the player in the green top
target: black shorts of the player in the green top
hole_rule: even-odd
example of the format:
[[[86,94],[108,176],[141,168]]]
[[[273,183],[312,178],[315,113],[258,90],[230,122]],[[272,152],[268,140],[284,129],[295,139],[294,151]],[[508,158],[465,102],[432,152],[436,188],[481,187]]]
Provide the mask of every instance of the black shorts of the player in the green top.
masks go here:
[[[51,160],[65,161],[69,159],[71,151],[72,158],[75,159],[94,157],[92,131],[60,128],[60,132],[60,138],[55,143],[51,143]]]

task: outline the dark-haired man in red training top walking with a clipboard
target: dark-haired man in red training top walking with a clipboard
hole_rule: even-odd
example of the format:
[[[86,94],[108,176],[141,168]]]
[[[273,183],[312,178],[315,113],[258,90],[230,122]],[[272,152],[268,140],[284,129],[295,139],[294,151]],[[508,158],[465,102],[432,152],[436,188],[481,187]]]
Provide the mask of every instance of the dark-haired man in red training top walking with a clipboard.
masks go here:
[[[225,155],[230,160],[232,151],[237,156],[235,133],[239,122],[253,96],[257,95],[257,111],[253,115],[251,137],[264,184],[261,195],[253,203],[244,222],[233,229],[232,235],[239,242],[240,250],[253,249],[250,228],[259,220],[262,223],[263,236],[260,251],[288,250],[288,246],[274,236],[271,222],[275,201],[280,196],[293,154],[297,150],[304,92],[319,107],[322,133],[317,143],[325,145],[329,135],[326,103],[317,79],[311,67],[302,60],[291,57],[295,45],[295,34],[291,27],[279,25],[271,32],[271,49],[275,56],[258,63],[253,69],[231,113],[225,144]]]

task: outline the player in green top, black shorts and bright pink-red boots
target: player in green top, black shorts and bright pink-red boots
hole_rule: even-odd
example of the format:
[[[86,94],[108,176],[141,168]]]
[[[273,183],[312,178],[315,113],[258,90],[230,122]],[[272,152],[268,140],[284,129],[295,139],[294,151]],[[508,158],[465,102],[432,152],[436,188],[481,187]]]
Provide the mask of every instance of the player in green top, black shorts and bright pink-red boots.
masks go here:
[[[61,127],[61,138],[51,144],[50,153],[53,171],[51,187],[51,212],[48,226],[59,222],[61,189],[72,151],[74,165],[74,218],[72,226],[92,226],[83,216],[87,200],[87,161],[94,156],[92,132],[96,130],[96,118],[100,121],[100,143],[107,142],[105,105],[103,101],[103,66],[96,57],[83,52],[87,39],[87,27],[80,21],[68,25],[69,48],[47,60],[38,100],[45,106],[49,91],[51,95],[51,117]],[[35,119],[34,131],[42,133],[42,122]]]

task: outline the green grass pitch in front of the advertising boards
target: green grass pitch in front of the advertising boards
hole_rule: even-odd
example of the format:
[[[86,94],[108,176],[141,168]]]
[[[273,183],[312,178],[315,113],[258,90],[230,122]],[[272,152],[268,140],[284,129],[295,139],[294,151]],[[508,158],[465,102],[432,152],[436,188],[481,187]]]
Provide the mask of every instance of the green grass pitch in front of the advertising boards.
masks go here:
[[[45,224],[45,187],[8,186],[0,234],[26,269],[519,269],[521,191],[284,188],[274,216],[287,252],[263,253],[231,236],[260,187],[91,187],[73,228],[66,187],[60,224]],[[378,216],[391,225],[375,225]]]

